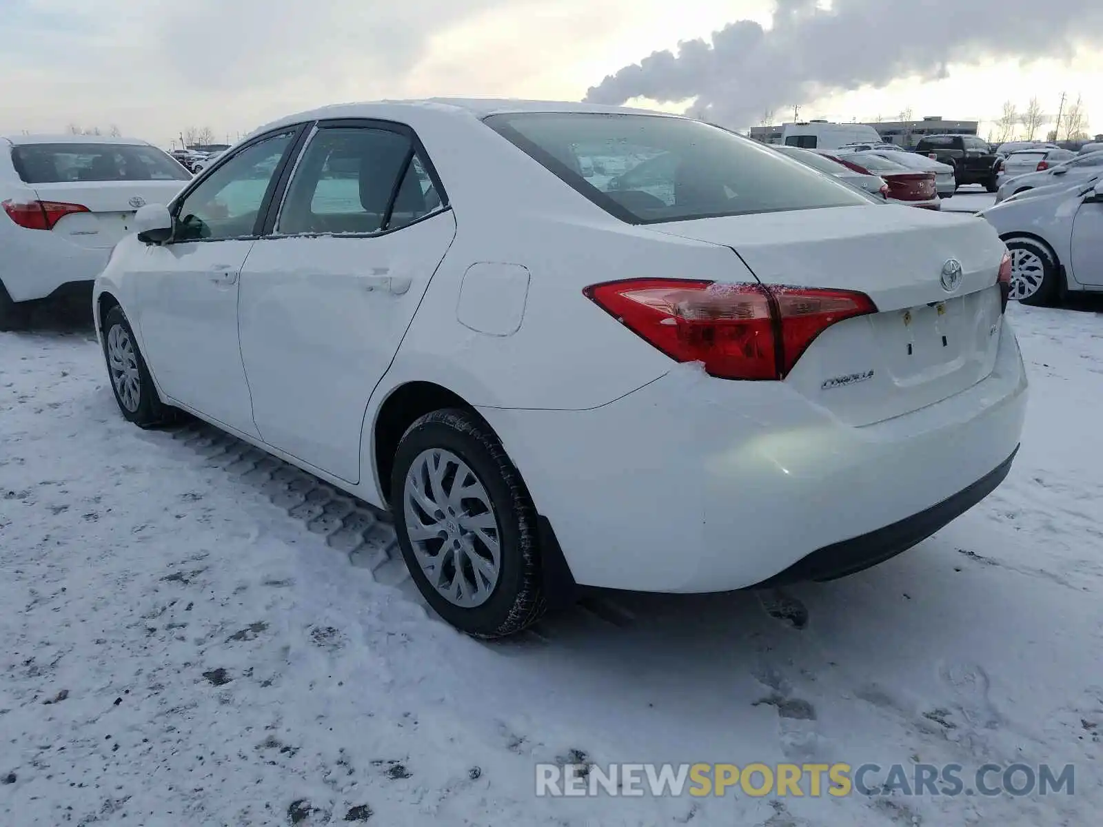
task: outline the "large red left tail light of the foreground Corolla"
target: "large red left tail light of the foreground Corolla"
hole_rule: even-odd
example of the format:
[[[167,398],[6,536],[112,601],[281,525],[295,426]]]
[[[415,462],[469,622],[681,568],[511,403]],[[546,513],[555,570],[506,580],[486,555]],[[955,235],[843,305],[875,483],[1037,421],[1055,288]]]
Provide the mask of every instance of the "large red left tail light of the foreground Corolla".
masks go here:
[[[672,359],[722,379],[784,379],[827,327],[877,312],[865,293],[821,288],[630,279],[583,292]]]

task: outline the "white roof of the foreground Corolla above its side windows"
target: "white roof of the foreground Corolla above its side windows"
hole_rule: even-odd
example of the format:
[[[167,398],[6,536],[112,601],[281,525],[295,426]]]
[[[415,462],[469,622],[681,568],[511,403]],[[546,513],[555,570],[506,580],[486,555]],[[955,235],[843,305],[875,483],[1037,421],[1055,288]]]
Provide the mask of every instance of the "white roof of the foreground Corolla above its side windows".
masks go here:
[[[299,123],[304,120],[315,120],[321,118],[371,118],[378,117],[381,110],[394,112],[396,108],[409,108],[410,110],[432,109],[433,111],[453,115],[457,117],[484,118],[489,115],[505,112],[595,112],[595,114],[627,114],[638,115],[661,115],[672,118],[683,117],[660,112],[653,109],[635,109],[623,106],[602,106],[599,104],[580,104],[577,100],[524,100],[517,98],[460,98],[460,97],[438,97],[422,98],[417,100],[365,100],[352,104],[333,104],[318,109],[288,115],[287,117],[274,120],[254,130],[254,135],[281,126]]]

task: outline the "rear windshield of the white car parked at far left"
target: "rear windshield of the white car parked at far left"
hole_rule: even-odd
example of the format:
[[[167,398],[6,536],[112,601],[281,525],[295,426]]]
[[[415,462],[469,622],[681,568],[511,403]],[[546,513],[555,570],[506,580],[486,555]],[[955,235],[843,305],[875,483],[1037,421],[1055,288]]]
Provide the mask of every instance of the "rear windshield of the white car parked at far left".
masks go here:
[[[168,153],[140,143],[24,143],[11,160],[25,184],[72,181],[190,181]]]

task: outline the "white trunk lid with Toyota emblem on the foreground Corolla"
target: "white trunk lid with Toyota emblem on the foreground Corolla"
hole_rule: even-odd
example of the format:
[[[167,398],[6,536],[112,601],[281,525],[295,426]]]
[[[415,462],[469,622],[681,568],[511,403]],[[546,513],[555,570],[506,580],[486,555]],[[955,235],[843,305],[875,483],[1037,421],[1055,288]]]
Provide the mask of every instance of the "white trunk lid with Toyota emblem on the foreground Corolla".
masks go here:
[[[1004,244],[987,222],[912,207],[856,206],[652,225],[731,247],[764,284],[866,293],[871,315],[834,324],[785,384],[840,420],[869,425],[972,387],[995,365]],[[943,266],[961,283],[942,287]]]

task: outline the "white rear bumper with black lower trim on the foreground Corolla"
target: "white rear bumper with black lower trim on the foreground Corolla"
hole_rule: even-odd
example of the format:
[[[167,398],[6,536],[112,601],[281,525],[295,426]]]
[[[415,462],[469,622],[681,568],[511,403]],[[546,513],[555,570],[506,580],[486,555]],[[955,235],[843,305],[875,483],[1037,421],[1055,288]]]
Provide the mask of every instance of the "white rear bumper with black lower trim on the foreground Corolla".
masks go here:
[[[689,365],[592,410],[480,412],[578,583],[708,592],[838,576],[922,540],[1006,473],[1026,391],[1005,320],[987,378],[869,426]]]

